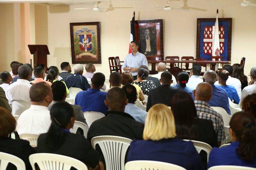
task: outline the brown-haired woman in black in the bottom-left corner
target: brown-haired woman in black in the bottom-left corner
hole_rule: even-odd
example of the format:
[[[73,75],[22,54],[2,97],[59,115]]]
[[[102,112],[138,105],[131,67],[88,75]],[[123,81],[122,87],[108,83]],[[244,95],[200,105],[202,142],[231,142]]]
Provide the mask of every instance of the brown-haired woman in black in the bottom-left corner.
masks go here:
[[[29,145],[27,140],[11,139],[9,134],[14,132],[16,128],[16,120],[7,109],[0,107],[0,152],[12,154],[24,161],[26,170],[32,170],[28,156],[36,154],[36,150]],[[7,166],[7,170],[15,170],[15,166],[11,163]]]

